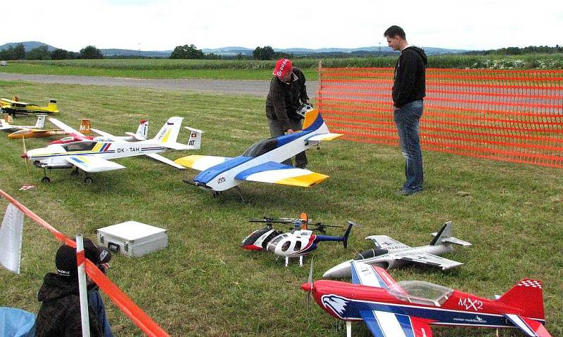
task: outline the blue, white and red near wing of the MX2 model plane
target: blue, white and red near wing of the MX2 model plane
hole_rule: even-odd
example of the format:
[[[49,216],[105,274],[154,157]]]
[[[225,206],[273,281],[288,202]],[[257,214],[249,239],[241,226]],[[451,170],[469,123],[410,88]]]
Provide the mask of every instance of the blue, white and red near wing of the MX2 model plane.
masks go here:
[[[432,337],[429,322],[418,317],[378,310],[360,310],[360,315],[375,337]]]

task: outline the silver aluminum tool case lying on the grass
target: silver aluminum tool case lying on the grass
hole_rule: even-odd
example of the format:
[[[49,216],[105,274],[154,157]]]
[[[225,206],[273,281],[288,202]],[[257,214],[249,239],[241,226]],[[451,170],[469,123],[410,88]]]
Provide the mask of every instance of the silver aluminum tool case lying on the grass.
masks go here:
[[[137,221],[127,221],[99,228],[96,233],[98,243],[113,253],[129,258],[143,256],[168,245],[166,230]]]

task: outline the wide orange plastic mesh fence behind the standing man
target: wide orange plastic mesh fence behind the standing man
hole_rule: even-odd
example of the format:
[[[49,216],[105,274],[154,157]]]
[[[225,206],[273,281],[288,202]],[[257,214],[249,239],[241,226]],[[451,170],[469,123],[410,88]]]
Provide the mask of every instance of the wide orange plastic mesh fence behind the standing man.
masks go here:
[[[322,68],[331,132],[398,145],[393,68]],[[427,69],[423,150],[563,168],[563,70]]]

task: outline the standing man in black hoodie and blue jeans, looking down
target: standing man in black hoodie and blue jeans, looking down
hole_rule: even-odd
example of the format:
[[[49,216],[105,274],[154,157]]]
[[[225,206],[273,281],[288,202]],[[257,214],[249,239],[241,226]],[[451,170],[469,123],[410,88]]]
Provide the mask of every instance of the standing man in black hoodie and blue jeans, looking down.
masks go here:
[[[403,28],[391,26],[384,37],[393,51],[400,51],[393,79],[393,117],[401,152],[406,159],[407,181],[397,194],[411,195],[422,191],[424,180],[419,119],[422,117],[422,98],[426,95],[428,59],[422,48],[408,44]]]

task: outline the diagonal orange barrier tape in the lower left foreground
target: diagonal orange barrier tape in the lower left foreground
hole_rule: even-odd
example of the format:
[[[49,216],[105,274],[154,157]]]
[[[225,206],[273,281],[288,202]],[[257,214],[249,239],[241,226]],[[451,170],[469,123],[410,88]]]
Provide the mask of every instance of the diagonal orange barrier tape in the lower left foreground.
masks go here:
[[[26,216],[34,220],[39,225],[42,225],[46,230],[49,230],[51,234],[53,234],[59,241],[63,242],[67,246],[71,246],[72,248],[76,248],[76,242],[68,237],[66,237],[63,233],[56,230],[55,227],[49,225],[45,220],[39,218],[37,214],[33,213],[27,207],[20,204],[19,201],[13,199],[8,193],[0,190],[0,197],[6,198],[11,204],[17,207],[20,211],[22,211]],[[111,282],[106,275],[103,275],[103,272],[98,269],[94,263],[90,260],[86,259],[85,265],[87,275],[92,279],[92,281],[96,282],[96,284],[100,287],[100,289],[105,292],[110,300],[112,300],[118,308],[121,309],[125,315],[127,315],[137,326],[141,329],[146,336],[151,337],[167,337],[169,336],[166,331],[164,331],[156,322],[151,319],[146,313],[139,308],[137,304],[135,304],[118,286],[116,286],[113,282]]]

